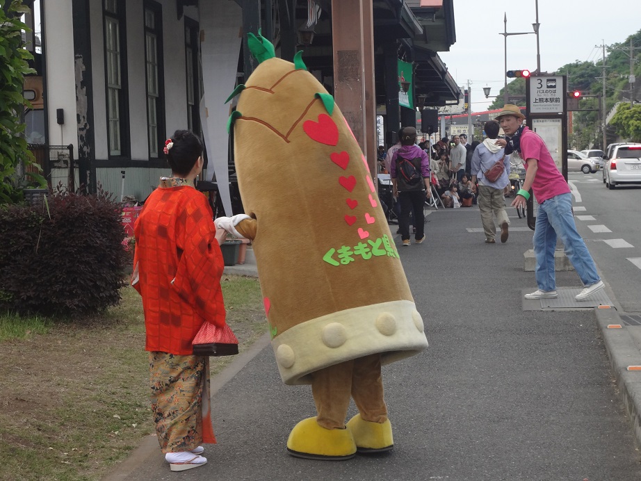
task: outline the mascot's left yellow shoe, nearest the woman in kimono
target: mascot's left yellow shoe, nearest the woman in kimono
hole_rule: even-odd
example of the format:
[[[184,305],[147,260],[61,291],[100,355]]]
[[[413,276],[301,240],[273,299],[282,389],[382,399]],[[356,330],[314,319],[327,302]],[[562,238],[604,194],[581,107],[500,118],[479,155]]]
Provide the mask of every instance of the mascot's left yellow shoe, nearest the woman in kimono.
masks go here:
[[[289,454],[308,459],[343,461],[356,454],[352,432],[345,429],[328,430],[316,422],[316,416],[295,425],[287,440]]]

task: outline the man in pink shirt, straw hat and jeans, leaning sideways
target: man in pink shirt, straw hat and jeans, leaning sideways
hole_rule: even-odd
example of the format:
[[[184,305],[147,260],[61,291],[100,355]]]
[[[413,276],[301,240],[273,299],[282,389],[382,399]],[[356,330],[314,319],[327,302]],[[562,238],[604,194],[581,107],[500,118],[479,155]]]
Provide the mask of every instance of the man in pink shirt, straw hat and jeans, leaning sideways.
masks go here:
[[[537,133],[522,125],[525,116],[519,107],[506,104],[496,116],[508,137],[505,153],[518,152],[524,159],[526,178],[514,198],[512,206],[524,206],[530,197],[530,187],[537,203],[537,221],[534,230],[535,275],[538,290],[526,294],[526,299],[557,297],[554,270],[554,250],[557,237],[565,246],[565,255],[583,282],[583,290],[575,296],[585,300],[603,289],[597,266],[578,235],[572,214],[572,197],[565,178],[559,172],[545,142]]]

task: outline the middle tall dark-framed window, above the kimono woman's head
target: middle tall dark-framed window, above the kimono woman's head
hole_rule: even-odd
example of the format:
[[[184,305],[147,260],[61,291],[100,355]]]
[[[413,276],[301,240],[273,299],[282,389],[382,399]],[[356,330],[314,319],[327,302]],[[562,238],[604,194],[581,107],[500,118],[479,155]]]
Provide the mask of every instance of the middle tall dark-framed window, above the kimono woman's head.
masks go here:
[[[145,66],[147,74],[147,134],[149,157],[158,157],[160,138],[165,135],[163,107],[161,6],[145,2]]]

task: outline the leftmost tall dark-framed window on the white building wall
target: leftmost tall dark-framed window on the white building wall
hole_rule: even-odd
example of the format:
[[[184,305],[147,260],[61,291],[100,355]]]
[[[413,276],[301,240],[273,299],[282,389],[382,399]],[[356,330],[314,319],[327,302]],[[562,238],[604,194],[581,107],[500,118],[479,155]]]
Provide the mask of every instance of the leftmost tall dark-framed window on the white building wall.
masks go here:
[[[124,85],[124,1],[104,0],[104,38],[107,83],[107,138],[110,156],[122,156],[127,129]]]

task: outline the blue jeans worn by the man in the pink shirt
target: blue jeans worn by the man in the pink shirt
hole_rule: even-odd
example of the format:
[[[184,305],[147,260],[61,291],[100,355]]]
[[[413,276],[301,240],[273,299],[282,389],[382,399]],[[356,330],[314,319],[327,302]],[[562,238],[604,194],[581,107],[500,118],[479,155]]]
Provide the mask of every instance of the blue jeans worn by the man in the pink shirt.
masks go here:
[[[539,204],[534,229],[535,275],[539,289],[554,291],[554,250],[557,236],[565,247],[565,255],[574,266],[584,286],[599,282],[597,266],[588,252],[583,238],[576,231],[572,215],[572,195],[560,194]]]

